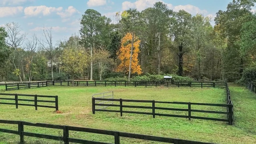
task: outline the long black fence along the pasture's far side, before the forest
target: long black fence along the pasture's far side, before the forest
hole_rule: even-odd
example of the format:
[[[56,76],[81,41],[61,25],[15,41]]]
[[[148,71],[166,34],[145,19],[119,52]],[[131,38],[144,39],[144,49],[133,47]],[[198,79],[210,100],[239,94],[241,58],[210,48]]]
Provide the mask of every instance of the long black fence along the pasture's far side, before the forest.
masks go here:
[[[176,87],[213,87],[226,88],[226,82],[116,82],[116,81],[45,81],[20,84],[5,84],[6,90],[19,90],[20,88],[33,88],[42,86],[176,86]]]

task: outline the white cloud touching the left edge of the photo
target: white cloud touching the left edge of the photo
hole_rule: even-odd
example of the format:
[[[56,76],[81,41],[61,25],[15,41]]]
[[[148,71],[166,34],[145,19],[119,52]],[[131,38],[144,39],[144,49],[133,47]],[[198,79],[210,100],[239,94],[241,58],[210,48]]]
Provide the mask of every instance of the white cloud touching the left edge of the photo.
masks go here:
[[[23,10],[22,6],[0,7],[0,18],[6,17],[6,16],[14,16],[22,12],[22,10]]]

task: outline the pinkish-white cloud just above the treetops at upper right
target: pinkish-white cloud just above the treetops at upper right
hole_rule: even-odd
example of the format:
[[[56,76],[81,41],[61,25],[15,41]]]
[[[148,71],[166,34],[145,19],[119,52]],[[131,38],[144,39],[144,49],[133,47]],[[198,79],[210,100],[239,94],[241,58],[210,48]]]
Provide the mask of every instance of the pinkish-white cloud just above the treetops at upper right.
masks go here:
[[[179,10],[185,10],[186,12],[189,12],[190,14],[197,14],[197,13],[207,13],[206,10],[200,10],[200,8],[187,4],[187,5],[179,5],[179,6],[174,6],[173,8],[174,11],[178,12]]]

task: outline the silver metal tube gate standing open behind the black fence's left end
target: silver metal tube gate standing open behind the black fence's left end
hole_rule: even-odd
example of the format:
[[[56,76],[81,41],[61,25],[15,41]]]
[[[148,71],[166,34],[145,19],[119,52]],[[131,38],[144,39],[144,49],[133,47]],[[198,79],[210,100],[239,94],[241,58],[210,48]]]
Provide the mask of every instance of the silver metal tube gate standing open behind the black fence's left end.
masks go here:
[[[99,94],[93,94],[92,98],[105,98],[114,99],[114,92],[102,92]],[[113,104],[113,101],[109,100],[95,100],[95,104]],[[95,109],[101,110],[107,108],[108,106],[96,106]]]

